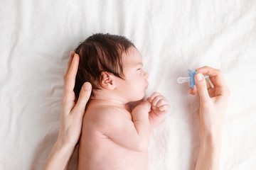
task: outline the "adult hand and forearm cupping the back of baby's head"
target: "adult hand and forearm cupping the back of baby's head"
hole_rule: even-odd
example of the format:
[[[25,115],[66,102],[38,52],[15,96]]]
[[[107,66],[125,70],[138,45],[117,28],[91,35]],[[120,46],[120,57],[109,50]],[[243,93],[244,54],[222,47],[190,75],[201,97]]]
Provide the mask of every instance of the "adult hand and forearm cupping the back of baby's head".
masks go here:
[[[70,52],[70,59],[63,77],[63,97],[61,100],[60,130],[43,169],[66,169],[75,150],[82,130],[85,106],[92,91],[91,84],[85,82],[75,103],[75,76],[78,72],[79,56]]]

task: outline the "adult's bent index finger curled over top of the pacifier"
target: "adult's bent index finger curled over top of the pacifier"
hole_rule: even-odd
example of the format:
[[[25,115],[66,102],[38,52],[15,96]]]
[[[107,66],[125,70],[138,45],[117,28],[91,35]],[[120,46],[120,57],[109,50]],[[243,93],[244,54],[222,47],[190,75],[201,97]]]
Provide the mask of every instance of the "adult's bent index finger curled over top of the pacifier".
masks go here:
[[[212,67],[205,66],[196,69],[196,72],[208,75],[214,86],[227,86],[223,74],[219,69],[213,69]]]

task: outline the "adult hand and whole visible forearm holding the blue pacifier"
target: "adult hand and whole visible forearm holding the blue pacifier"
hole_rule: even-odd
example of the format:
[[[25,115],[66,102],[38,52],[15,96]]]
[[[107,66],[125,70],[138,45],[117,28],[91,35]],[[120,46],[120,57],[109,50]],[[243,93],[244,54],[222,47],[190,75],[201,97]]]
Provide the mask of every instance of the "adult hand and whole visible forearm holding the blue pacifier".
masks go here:
[[[196,86],[190,94],[199,94],[199,126],[201,130],[201,145],[196,162],[196,170],[219,169],[222,128],[225,110],[228,105],[230,90],[220,70],[211,67],[196,69]],[[213,83],[210,86],[206,78]]]

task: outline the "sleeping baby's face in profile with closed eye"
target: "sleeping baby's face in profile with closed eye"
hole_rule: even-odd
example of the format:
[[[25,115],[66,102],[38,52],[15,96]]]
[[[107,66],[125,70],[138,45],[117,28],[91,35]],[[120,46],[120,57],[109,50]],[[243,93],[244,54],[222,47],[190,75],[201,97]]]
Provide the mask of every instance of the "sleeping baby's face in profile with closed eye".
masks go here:
[[[122,55],[124,80],[119,79],[119,94],[127,102],[139,101],[144,98],[149,85],[148,74],[143,70],[142,55],[135,47],[130,47],[127,54]]]

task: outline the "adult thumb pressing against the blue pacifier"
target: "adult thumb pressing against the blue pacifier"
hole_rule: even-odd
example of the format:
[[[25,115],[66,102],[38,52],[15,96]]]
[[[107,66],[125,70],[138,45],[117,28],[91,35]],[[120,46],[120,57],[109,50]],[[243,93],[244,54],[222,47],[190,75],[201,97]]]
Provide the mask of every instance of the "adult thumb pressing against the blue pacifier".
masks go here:
[[[206,79],[201,73],[197,73],[195,75],[195,83],[196,83],[196,89],[199,94],[199,98],[201,101],[208,101],[210,98],[208,94]]]

